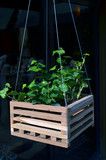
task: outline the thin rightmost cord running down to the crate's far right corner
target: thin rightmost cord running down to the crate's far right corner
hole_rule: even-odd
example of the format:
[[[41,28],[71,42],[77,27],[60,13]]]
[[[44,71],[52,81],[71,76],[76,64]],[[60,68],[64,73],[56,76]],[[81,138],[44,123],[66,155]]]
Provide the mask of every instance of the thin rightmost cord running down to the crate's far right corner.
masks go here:
[[[79,35],[78,35],[78,30],[77,30],[77,27],[76,27],[75,17],[74,17],[74,14],[73,14],[72,4],[71,4],[70,0],[68,0],[68,4],[69,4],[69,9],[70,9],[70,13],[71,13],[71,17],[72,17],[72,21],[73,21],[73,25],[74,25],[74,29],[75,29],[77,41],[78,41],[78,46],[79,46],[80,54],[81,54],[82,59],[83,59],[82,47],[81,47],[80,38],[79,38]],[[86,73],[86,77],[89,78],[85,64],[84,64],[84,70],[85,70],[85,73]],[[91,85],[90,85],[89,81],[88,81],[88,87],[89,87],[90,93],[92,94],[92,89],[91,89]]]

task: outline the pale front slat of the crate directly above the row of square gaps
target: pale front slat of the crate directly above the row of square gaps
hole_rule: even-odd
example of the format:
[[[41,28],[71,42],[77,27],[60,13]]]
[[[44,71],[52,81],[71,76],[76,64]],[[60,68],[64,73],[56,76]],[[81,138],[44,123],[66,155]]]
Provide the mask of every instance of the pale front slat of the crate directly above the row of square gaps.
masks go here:
[[[46,128],[34,127],[34,126],[21,124],[21,123],[12,124],[11,133],[14,132],[13,128],[23,129],[25,131],[30,131],[30,132],[39,133],[39,134],[45,134],[48,136],[60,137],[60,138],[64,138],[64,139],[67,138],[67,135],[63,135],[60,131],[54,131],[54,130],[50,130],[50,129],[46,129]]]

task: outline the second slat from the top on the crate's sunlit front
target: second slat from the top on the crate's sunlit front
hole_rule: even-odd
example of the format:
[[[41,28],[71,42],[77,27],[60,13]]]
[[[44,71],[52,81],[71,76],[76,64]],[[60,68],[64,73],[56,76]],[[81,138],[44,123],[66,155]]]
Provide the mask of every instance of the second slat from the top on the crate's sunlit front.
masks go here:
[[[35,117],[35,118],[60,121],[60,122],[64,119],[64,116],[62,116],[62,115],[43,113],[43,112],[38,112],[38,111],[21,110],[21,109],[15,109],[12,111],[12,113],[24,115],[24,116],[31,116],[31,117]]]

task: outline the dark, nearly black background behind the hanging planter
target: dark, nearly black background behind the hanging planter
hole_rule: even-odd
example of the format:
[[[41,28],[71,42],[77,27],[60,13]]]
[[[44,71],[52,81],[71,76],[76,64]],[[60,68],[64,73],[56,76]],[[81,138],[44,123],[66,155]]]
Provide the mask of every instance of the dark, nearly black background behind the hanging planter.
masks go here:
[[[95,0],[72,0],[71,2],[83,53],[90,53],[86,67],[89,77],[92,79],[90,83],[95,98],[95,127],[89,128],[79,136],[68,150],[12,137],[9,132],[8,101],[0,100],[0,154],[2,154],[3,147],[5,151],[9,147],[10,155],[16,156],[18,160],[60,160],[60,158],[61,160],[90,160],[94,159],[93,156],[96,160],[99,159],[99,51],[100,45],[103,45],[100,44],[102,38],[99,37],[99,24],[102,23],[101,28],[104,25],[103,20],[99,23],[99,19],[101,19],[102,5],[100,6],[99,1]],[[28,0],[0,0],[1,87],[7,80],[15,84],[27,5]],[[68,3],[65,0],[57,0],[56,8],[60,45],[66,50],[67,55],[79,59],[81,56],[71,14],[68,10]],[[47,34],[46,30],[48,31]],[[102,37],[102,29],[101,32]],[[45,62],[47,67],[55,63],[51,52],[56,48],[53,3],[47,0],[32,0],[19,82],[24,78],[27,80],[30,78],[25,74],[24,69],[32,57]],[[48,49],[48,52],[46,49]],[[8,153],[5,156],[8,156]]]

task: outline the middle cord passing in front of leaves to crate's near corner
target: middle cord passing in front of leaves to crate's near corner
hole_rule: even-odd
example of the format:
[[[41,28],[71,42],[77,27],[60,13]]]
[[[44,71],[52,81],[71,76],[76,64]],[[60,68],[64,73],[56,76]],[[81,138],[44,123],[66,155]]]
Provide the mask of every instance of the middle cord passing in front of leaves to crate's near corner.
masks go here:
[[[54,17],[55,17],[55,26],[56,26],[57,45],[58,45],[58,49],[60,49],[60,40],[59,40],[59,31],[58,31],[58,24],[57,24],[57,13],[56,13],[55,0],[53,0],[53,8],[54,8]],[[62,72],[63,67],[62,67],[62,58],[61,58],[60,54],[59,54],[59,59],[60,59],[60,69]],[[64,85],[64,77],[63,77],[62,73],[61,73],[61,81],[62,81],[62,85]],[[67,106],[66,92],[64,92],[64,91],[63,91],[63,96],[64,96],[65,106]]]

